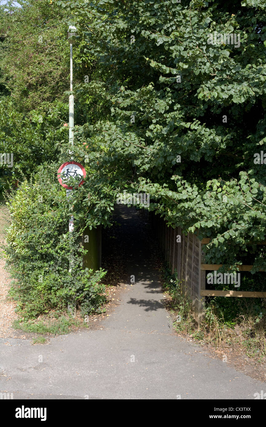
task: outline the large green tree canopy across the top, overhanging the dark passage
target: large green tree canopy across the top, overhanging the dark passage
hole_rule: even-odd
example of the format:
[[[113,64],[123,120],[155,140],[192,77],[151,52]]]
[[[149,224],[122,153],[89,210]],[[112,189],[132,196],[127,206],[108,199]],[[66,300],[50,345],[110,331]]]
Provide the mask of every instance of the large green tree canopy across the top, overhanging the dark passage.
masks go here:
[[[110,225],[117,193],[146,192],[169,225],[212,239],[206,262],[265,268],[263,246],[248,245],[266,239],[265,1],[25,3],[36,16],[45,6],[36,30],[66,19],[34,54],[33,38],[7,53],[24,12],[6,18],[3,97],[27,116],[64,101],[65,31],[78,29],[74,156],[87,178],[76,214]],[[62,141],[58,161],[69,160]]]

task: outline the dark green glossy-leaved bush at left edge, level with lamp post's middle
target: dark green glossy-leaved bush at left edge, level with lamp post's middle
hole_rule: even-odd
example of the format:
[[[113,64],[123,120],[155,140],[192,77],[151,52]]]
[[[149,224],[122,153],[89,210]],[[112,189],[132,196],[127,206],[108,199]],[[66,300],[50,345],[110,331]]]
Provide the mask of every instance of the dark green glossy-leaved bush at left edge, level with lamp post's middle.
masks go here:
[[[38,165],[58,160],[60,145],[68,139],[66,117],[67,106],[60,102],[53,111],[43,108],[26,117],[8,98],[1,99],[0,153],[9,154],[9,164],[0,162],[0,192],[23,176],[29,178]]]

